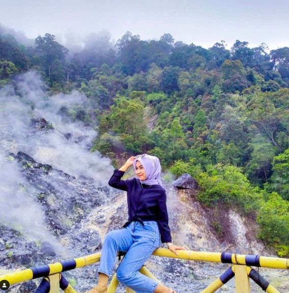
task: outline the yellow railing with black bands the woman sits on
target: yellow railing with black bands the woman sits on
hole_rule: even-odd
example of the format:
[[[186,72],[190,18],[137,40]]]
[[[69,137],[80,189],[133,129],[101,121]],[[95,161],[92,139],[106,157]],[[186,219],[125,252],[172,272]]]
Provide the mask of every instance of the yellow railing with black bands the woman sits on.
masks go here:
[[[250,292],[249,278],[254,280],[259,286],[261,286],[264,291],[269,293],[276,293],[278,292],[278,290],[275,289],[272,285],[270,285],[269,282],[267,282],[255,270],[251,269],[250,266],[284,270],[289,269],[289,259],[287,258],[267,257],[258,255],[242,255],[224,252],[199,252],[190,250],[179,250],[178,255],[176,255],[166,248],[158,248],[153,253],[153,255],[186,260],[232,263],[233,266],[229,268],[226,272],[224,272],[217,280],[210,284],[206,289],[204,289],[202,293],[215,292],[223,284],[225,284],[228,280],[232,279],[233,277],[236,278],[237,293]],[[68,284],[67,281],[65,282],[62,280],[62,286],[60,286],[60,280],[62,278],[61,272],[92,265],[93,263],[96,263],[100,260],[100,256],[101,253],[99,252],[84,257],[52,263],[50,265],[25,269],[23,271],[0,276],[0,282],[2,280],[6,280],[10,283],[10,285],[13,285],[31,279],[45,277],[44,283],[45,281],[47,281],[49,283],[50,289],[50,291],[48,290],[47,292],[59,293],[61,287],[66,293],[75,293],[76,291]],[[150,278],[156,279],[146,267],[142,267],[140,272]],[[117,280],[117,277],[116,275],[114,275],[109,284],[108,293],[115,292],[118,284],[119,282]],[[41,292],[46,291],[42,290]],[[134,291],[127,288],[127,292],[132,293]]]

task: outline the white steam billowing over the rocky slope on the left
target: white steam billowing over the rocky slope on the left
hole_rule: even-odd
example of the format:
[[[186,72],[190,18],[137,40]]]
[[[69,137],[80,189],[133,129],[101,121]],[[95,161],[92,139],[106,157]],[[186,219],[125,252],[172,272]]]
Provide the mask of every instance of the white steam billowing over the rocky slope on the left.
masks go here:
[[[35,200],[36,190],[23,178],[19,165],[7,160],[8,153],[24,152],[76,178],[93,178],[96,185],[106,185],[112,172],[109,159],[89,152],[95,130],[64,121],[59,114],[64,106],[85,105],[86,97],[77,91],[49,97],[45,90],[40,76],[30,71],[0,91],[0,206],[5,207],[0,222],[39,240],[47,238],[47,230],[41,205]],[[35,117],[44,118],[54,130],[33,129],[31,119]]]

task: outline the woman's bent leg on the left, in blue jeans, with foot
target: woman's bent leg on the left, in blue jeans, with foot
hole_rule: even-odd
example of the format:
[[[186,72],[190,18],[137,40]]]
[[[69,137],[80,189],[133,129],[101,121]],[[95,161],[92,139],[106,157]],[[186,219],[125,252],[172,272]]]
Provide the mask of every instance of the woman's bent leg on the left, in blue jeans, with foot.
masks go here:
[[[89,293],[107,292],[108,278],[113,270],[117,253],[119,251],[128,251],[132,243],[133,241],[129,227],[120,230],[113,230],[107,233],[104,239],[100,265],[98,268],[98,284]]]

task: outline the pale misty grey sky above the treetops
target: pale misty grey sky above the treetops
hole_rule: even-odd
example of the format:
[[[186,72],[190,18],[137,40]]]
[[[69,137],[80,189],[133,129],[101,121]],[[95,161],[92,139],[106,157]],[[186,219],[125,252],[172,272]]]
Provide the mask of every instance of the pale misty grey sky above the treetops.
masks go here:
[[[289,46],[288,15],[288,0],[0,0],[0,23],[65,45],[107,30],[115,41],[130,31],[142,40],[170,33],[205,48],[238,39],[277,49]]]

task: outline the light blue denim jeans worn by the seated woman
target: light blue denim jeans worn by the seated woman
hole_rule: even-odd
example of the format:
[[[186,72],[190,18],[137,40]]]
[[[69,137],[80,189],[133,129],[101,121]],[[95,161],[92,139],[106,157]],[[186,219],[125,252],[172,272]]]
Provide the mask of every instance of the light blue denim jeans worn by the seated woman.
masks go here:
[[[110,276],[119,251],[126,252],[117,270],[118,280],[137,293],[154,292],[157,282],[138,271],[160,245],[160,233],[155,221],[132,222],[120,230],[107,233],[98,272]]]

